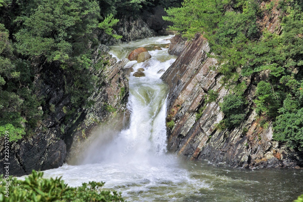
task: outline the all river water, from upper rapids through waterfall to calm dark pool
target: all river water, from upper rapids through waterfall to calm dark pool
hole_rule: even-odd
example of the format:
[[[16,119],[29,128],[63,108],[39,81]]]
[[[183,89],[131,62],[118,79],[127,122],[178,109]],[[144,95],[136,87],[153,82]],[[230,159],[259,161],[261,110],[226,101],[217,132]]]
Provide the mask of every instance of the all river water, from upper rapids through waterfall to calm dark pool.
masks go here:
[[[138,47],[152,58],[126,67],[144,68],[145,77],[129,80],[130,125],[110,142],[102,138],[88,148],[80,165],[65,164],[44,171],[62,176],[71,186],[104,181],[104,188],[121,191],[128,201],[292,201],[303,194],[303,171],[293,169],[232,169],[207,161],[187,162],[166,150],[167,85],[160,76],[176,59],[165,46],[171,36],[153,37],[111,47],[118,59]],[[100,137],[106,136],[100,132]]]

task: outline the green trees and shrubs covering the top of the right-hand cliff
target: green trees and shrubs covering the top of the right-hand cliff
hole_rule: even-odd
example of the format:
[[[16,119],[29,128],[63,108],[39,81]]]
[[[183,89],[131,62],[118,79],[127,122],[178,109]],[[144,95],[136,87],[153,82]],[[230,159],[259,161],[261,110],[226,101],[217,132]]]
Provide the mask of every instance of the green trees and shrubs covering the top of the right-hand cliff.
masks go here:
[[[259,21],[271,9],[281,11],[281,32],[271,33]],[[303,149],[303,5],[300,0],[267,1],[265,6],[244,0],[185,0],[170,8],[171,29],[191,39],[197,32],[208,39],[219,62],[222,82],[244,96],[242,77],[261,75],[254,100],[256,112],[274,121],[275,140]],[[244,87],[244,88],[243,88]],[[228,102],[228,95],[222,104]],[[224,123],[234,127],[244,118],[241,107],[223,107]],[[222,123],[223,123],[222,122]],[[225,123],[225,124],[226,124]]]

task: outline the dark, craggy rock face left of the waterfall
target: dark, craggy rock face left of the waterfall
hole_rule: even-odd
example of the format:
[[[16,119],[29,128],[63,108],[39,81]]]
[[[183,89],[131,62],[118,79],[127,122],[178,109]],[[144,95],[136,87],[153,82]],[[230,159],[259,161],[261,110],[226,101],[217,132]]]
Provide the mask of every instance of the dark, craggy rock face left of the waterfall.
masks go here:
[[[100,47],[102,48],[102,47]],[[108,64],[103,69],[91,69],[94,76],[94,91],[88,98],[92,101],[91,107],[78,108],[73,116],[64,122],[66,111],[72,110],[71,95],[66,93],[65,77],[60,71],[46,71],[48,77],[38,73],[35,85],[38,96],[45,97],[48,103],[53,104],[54,111],[47,115],[33,131],[34,135],[12,142],[10,146],[9,174],[15,176],[27,175],[35,170],[47,170],[63,165],[71,147],[76,148],[91,133],[91,131],[107,121],[112,121],[112,127],[122,127],[123,120],[116,119],[124,114],[128,97],[128,74],[123,69],[127,59],[119,61],[110,55],[102,56],[96,50],[94,61],[103,59]],[[102,51],[101,51],[102,52]],[[106,54],[106,53],[103,53]],[[49,69],[49,68],[48,68]],[[52,75],[53,73],[56,75]],[[52,73],[52,74],[51,74]],[[53,81],[57,79],[57,83]],[[47,111],[43,108],[43,111]],[[66,120],[66,119],[65,119]],[[4,139],[3,139],[4,141]],[[4,152],[4,143],[0,144],[0,151]],[[77,152],[77,149],[73,150]],[[0,173],[4,173],[3,159],[0,160]]]

